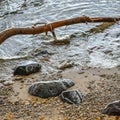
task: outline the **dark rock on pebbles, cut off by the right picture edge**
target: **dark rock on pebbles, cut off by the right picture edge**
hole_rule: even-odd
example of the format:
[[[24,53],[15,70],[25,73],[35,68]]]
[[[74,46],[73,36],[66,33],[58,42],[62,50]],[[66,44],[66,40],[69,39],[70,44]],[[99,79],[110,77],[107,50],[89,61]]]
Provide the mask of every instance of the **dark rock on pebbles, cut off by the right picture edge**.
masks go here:
[[[102,114],[109,116],[120,116],[120,100],[109,103],[102,110]]]

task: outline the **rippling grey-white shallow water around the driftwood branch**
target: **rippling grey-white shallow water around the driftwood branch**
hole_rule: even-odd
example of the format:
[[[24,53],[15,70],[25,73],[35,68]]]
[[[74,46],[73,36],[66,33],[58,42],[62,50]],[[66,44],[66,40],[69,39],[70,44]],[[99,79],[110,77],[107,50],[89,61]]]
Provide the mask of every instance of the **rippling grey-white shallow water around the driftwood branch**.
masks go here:
[[[83,15],[120,17],[120,0],[0,0],[0,31]],[[100,33],[81,36],[99,24],[101,23],[77,24],[56,29],[58,38],[74,34],[70,45],[42,45],[41,42],[45,41],[44,34],[11,37],[0,45],[0,60],[24,58],[31,52],[42,49],[53,53],[46,64],[53,68],[64,62],[83,67],[111,68],[120,65],[119,24],[114,24]],[[51,36],[48,38],[52,39]],[[39,61],[39,58],[36,59]]]

